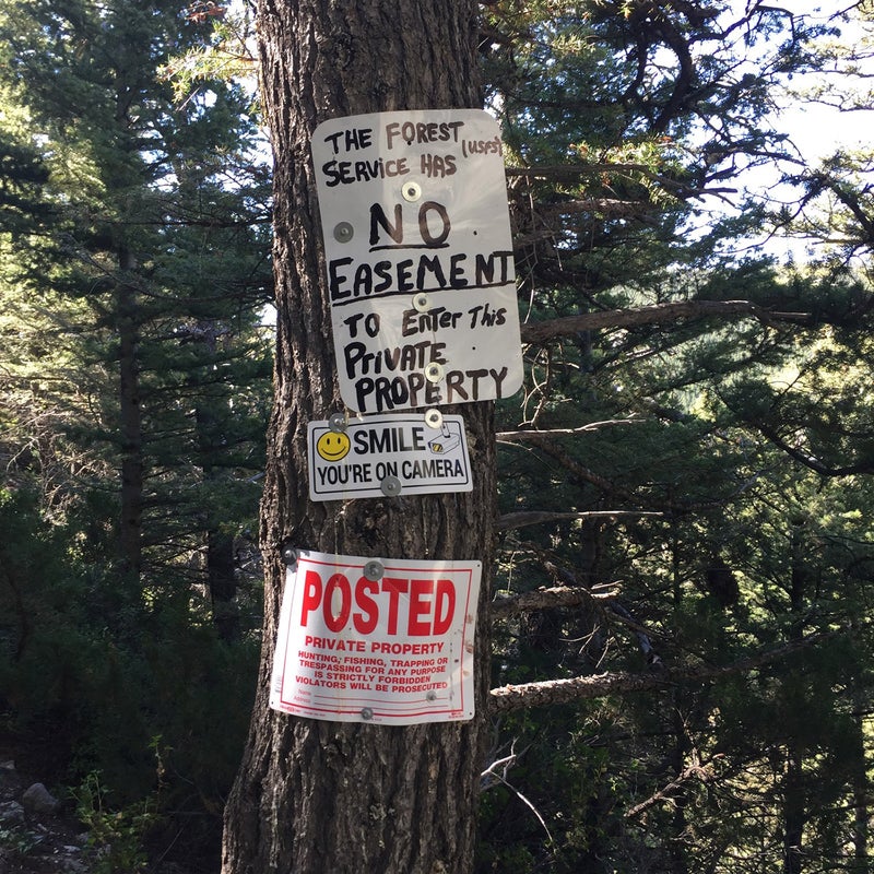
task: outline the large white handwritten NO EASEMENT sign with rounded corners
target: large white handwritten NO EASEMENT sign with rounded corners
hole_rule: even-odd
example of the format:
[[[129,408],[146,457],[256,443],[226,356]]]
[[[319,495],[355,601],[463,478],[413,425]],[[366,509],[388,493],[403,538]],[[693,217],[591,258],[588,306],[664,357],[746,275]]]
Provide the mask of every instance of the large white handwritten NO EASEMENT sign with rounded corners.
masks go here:
[[[522,385],[503,151],[480,109],[347,116],[314,132],[350,410],[494,400]]]

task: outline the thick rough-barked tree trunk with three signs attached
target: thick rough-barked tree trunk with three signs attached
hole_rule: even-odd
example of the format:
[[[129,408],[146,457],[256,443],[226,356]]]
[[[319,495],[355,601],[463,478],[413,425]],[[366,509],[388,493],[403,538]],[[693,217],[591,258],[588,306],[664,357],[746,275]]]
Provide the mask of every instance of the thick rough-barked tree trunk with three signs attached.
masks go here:
[[[470,0],[261,0],[262,94],[274,152],[277,352],[261,542],[264,643],[244,761],[225,813],[224,874],[470,871],[488,682],[491,403],[465,418],[466,494],[312,504],[306,428],[343,410],[318,229],[310,135],[330,117],[472,107]],[[483,562],[476,717],[409,728],[290,717],[268,707],[283,544],[346,555]]]

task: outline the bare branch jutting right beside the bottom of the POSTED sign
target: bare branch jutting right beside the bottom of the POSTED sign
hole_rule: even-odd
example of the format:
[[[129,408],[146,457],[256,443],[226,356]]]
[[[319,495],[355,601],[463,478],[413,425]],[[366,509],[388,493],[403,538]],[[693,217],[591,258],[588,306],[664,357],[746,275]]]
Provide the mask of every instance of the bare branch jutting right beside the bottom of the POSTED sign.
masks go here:
[[[807,647],[837,635],[837,631],[813,634],[793,640],[783,647],[741,659],[727,665],[704,665],[684,671],[659,671],[653,673],[627,673],[621,671],[575,676],[567,680],[546,680],[540,683],[500,686],[489,692],[488,707],[492,713],[524,710],[531,707],[548,707],[555,704],[572,704],[607,695],[628,695],[650,692],[681,683],[702,683],[732,674],[741,674],[763,668]]]

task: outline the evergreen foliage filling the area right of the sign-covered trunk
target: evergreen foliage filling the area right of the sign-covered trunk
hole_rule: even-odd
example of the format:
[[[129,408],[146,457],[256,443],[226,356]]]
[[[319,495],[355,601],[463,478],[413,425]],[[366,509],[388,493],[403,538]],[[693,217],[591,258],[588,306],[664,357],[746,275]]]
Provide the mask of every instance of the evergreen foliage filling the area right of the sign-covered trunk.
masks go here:
[[[720,43],[728,17],[720,31],[695,4],[488,8],[491,96],[511,163],[533,169],[510,170],[523,316],[733,299],[798,315],[617,317],[527,349],[522,409],[503,402],[498,429],[538,434],[498,445],[496,588],[592,597],[501,621],[493,681],[739,675],[501,721],[495,748],[524,753],[512,789],[485,793],[482,871],[789,871],[798,829],[804,864],[864,870],[872,290],[831,255],[805,269],[736,257],[734,239],[767,226],[761,200],[701,217],[696,201],[743,161],[788,156],[769,101],[824,61],[810,40],[830,28],[747,12],[743,43]],[[870,259],[851,227],[869,212],[864,166],[794,179],[807,231],[814,179],[832,198],[817,236],[834,215],[843,255]],[[535,511],[557,518],[511,528]],[[815,633],[818,647],[740,668]]]

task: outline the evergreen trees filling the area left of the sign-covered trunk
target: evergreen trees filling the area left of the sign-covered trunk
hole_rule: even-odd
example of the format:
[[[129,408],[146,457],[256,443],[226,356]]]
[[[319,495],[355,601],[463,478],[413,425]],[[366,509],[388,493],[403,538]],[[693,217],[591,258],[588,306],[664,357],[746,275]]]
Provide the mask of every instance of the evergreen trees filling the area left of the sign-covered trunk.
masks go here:
[[[250,97],[209,75],[177,103],[161,71],[203,28],[173,3],[3,0],[0,33],[3,717],[122,811],[161,736],[161,804],[214,841],[261,614],[270,178]]]

